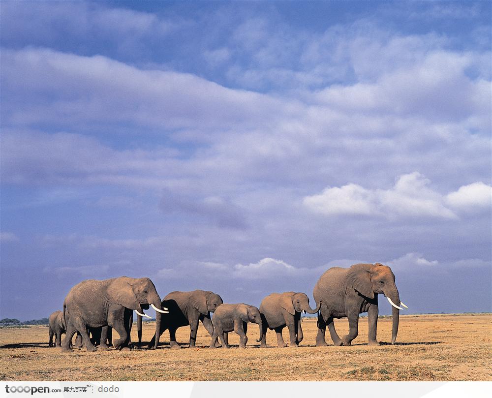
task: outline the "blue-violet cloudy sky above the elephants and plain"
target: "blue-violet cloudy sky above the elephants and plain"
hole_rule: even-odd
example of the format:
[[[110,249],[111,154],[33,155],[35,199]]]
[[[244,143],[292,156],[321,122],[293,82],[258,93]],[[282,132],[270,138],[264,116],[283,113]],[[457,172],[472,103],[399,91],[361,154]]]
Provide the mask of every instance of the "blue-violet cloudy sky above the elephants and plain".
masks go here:
[[[491,311],[490,21],[2,1],[0,316],[121,275],[258,306],[357,262],[391,266],[409,312]]]

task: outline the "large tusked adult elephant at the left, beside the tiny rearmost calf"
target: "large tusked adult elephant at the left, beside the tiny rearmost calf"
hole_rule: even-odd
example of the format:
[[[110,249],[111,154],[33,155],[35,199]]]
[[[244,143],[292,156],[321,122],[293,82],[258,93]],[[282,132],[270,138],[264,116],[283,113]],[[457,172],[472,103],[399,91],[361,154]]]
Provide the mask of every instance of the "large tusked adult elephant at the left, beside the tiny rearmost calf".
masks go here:
[[[95,280],[89,279],[72,287],[63,303],[63,318],[66,336],[62,342],[62,351],[73,351],[70,341],[78,331],[87,351],[95,351],[88,328],[111,326],[120,335],[113,341],[117,349],[127,347],[130,342],[130,319],[133,310],[143,312],[143,307],[162,309],[160,297],[154,283],[149,278],[119,278]],[[155,335],[160,336],[161,313],[156,312]],[[157,346],[158,338],[155,341]]]

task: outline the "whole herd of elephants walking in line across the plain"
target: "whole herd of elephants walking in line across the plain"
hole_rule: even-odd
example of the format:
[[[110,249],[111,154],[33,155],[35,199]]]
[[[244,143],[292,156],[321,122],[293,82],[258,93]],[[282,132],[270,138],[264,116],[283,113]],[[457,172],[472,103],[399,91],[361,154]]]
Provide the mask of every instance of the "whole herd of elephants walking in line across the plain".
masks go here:
[[[350,268],[334,267],[318,279],[313,297],[316,307],[309,306],[305,293],[272,293],[265,297],[259,308],[247,304],[224,304],[222,298],[211,291],[194,290],[172,292],[161,300],[154,283],[149,278],[121,276],[113,279],[88,279],[70,289],[63,303],[63,311],[50,315],[50,347],[71,352],[72,347],[85,346],[87,351],[113,345],[116,349],[132,346],[130,331],[133,311],[137,313],[138,346],[142,344],[142,317],[144,310],[152,306],[156,311],[155,335],[149,348],[158,346],[159,338],[169,330],[170,348],[180,348],[176,330],[190,326],[189,346],[194,347],[199,321],[211,336],[210,348],[229,348],[228,333],[240,336],[239,346],[246,347],[247,324],[259,325],[260,348],[266,347],[267,331],[277,334],[279,347],[286,347],[282,337],[283,328],[289,330],[290,346],[297,347],[303,340],[301,314],[303,311],[318,313],[316,346],[325,346],[325,331],[328,326],[335,345],[351,345],[358,335],[359,314],[368,313],[369,345],[378,345],[376,328],[378,319],[377,295],[384,294],[393,306],[394,343],[398,333],[401,306],[395,275],[385,265],[355,264]],[[213,319],[211,313],[214,313]],[[340,338],[335,330],[334,318],[347,317],[349,333]],[[113,339],[115,329],[120,338]],[[63,341],[62,334],[66,333]],[[75,344],[73,336],[77,334]],[[53,337],[55,343],[53,344]],[[220,339],[220,343],[219,340]]]

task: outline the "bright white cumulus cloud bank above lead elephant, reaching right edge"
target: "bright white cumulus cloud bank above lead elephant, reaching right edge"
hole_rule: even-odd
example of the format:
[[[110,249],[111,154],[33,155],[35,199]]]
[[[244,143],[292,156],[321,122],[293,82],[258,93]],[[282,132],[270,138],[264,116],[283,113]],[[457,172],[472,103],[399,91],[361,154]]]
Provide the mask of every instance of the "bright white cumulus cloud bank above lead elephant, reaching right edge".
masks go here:
[[[470,205],[479,210],[490,208],[491,186],[475,183],[456,192],[441,195],[431,189],[431,181],[418,172],[400,176],[393,188],[367,189],[357,184],[325,188],[320,194],[306,196],[303,204],[312,212],[336,215],[359,214],[400,217],[437,217],[457,219],[453,209]]]

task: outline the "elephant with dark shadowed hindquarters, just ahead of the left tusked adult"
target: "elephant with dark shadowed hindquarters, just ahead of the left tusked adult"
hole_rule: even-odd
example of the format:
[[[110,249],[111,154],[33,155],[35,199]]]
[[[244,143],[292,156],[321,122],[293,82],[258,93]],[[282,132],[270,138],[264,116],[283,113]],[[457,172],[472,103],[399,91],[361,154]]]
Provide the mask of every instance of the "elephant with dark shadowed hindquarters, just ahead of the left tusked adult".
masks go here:
[[[180,348],[176,341],[176,330],[190,325],[189,347],[194,348],[198,321],[201,321],[209,335],[214,334],[214,326],[210,313],[223,303],[222,298],[211,291],[193,290],[192,292],[171,292],[162,301],[162,306],[168,308],[169,315],[161,318],[160,333],[169,329],[170,348]],[[142,339],[142,317],[137,315],[138,344]],[[155,335],[149,346],[155,344]]]

